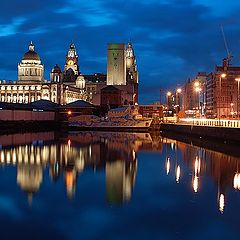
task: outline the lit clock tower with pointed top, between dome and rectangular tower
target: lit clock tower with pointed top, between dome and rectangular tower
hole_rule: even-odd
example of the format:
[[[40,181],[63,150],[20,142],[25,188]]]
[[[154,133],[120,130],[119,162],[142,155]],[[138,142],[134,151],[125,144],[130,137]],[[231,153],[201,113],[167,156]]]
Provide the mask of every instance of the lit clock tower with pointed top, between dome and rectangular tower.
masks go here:
[[[66,63],[64,65],[64,80],[67,82],[75,81],[79,73],[76,47],[74,43],[71,42],[66,55]]]

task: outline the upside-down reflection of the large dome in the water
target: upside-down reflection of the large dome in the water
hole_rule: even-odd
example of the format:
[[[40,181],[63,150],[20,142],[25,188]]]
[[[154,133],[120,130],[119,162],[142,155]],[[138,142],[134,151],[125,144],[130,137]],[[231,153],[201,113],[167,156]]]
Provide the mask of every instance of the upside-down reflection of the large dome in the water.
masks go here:
[[[28,194],[29,203],[33,193],[37,192],[42,183],[43,170],[41,165],[19,164],[17,168],[17,183]]]

